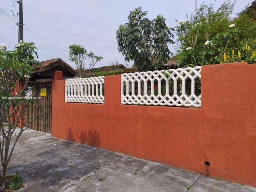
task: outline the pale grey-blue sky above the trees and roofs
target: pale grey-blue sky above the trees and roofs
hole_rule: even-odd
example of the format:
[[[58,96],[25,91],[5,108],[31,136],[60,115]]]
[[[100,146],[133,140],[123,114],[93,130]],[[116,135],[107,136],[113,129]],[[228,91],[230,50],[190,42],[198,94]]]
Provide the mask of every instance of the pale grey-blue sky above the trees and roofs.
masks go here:
[[[233,1],[233,0],[232,0]],[[197,0],[200,5],[203,0]],[[205,3],[214,3],[215,0],[205,0]],[[216,0],[215,8],[224,2]],[[234,7],[235,16],[244,6],[252,0],[237,0]],[[0,10],[10,11],[13,0],[1,0]],[[73,68],[75,64],[68,60],[68,46],[79,44],[88,51],[94,52],[104,59],[95,67],[107,66],[117,60],[120,64],[125,62],[124,56],[118,52],[116,44],[116,30],[120,24],[128,22],[129,12],[136,7],[148,11],[150,20],[162,14],[166,18],[168,27],[176,26],[175,20],[185,20],[186,14],[193,13],[194,0],[23,0],[23,23],[31,26],[58,30],[90,38],[106,41],[81,38],[67,34],[60,34],[38,28],[25,26],[24,41],[34,42],[38,48],[38,60],[62,58]],[[18,10],[18,4],[16,4]],[[12,9],[14,10],[14,9]],[[16,13],[16,12],[15,12]],[[13,18],[14,19],[14,18]],[[15,19],[14,19],[15,20]],[[18,42],[18,26],[0,11],[0,43],[6,43],[12,50]],[[40,36],[41,38],[39,38]],[[43,39],[45,40],[43,40]],[[47,42],[47,41],[48,42]],[[58,46],[54,46],[52,44]],[[169,49],[175,52],[173,46]],[[130,63],[131,65],[132,63]],[[88,68],[88,63],[86,64]]]

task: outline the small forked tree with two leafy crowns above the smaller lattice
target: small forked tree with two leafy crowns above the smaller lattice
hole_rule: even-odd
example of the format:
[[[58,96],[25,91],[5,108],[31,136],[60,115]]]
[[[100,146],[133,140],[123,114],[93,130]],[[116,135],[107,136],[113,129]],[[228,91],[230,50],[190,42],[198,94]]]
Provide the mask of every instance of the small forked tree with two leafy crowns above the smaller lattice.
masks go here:
[[[78,69],[79,76],[84,78],[85,74],[85,60],[88,60],[89,63],[89,76],[91,76],[91,70],[94,66],[103,59],[102,56],[96,56],[93,52],[89,52],[87,54],[87,50],[81,45],[70,45],[69,46],[69,60],[76,64],[76,68]],[[86,59],[87,58],[87,59]]]

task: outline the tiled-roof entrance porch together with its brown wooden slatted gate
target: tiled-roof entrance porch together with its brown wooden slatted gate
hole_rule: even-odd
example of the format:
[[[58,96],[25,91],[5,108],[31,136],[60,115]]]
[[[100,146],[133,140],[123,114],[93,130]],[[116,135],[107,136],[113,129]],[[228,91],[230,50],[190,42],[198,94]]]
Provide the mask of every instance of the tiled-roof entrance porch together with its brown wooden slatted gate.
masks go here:
[[[62,71],[64,78],[73,78],[76,75],[76,70],[60,58],[42,61],[40,64],[41,66],[36,67],[30,74],[26,96],[33,96],[33,99],[35,99],[30,105],[24,106],[27,108],[23,120],[28,124],[28,128],[50,133],[52,119],[52,78],[54,71]],[[23,81],[23,79],[20,80],[17,88],[24,86]],[[32,114],[38,116],[38,120],[33,123],[30,122],[33,119],[28,118]],[[44,114],[44,117],[41,118],[39,116],[40,114]],[[23,120],[20,121],[20,125],[23,124]]]

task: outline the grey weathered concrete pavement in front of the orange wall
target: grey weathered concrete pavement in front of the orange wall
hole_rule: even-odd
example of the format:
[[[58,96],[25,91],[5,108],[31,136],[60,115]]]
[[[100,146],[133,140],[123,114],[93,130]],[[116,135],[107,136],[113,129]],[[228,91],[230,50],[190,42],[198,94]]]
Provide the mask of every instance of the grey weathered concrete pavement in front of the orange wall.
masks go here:
[[[8,173],[19,170],[19,192],[256,192],[255,188],[140,160],[27,130]],[[99,181],[102,178],[102,181]]]

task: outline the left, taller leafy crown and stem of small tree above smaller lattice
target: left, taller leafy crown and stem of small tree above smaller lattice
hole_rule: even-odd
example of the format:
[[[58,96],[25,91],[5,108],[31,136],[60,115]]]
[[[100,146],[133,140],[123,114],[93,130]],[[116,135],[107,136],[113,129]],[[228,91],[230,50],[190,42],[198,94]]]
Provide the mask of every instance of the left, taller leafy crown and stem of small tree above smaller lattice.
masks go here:
[[[69,46],[69,60],[76,64],[79,76],[84,77],[84,67],[86,60],[87,50],[80,45],[70,45]]]

